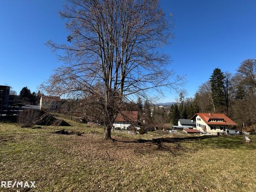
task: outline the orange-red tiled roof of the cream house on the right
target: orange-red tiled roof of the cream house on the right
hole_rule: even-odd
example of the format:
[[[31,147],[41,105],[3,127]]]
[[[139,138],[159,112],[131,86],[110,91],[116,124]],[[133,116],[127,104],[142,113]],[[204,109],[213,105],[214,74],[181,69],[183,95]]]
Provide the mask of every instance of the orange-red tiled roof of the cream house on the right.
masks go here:
[[[196,113],[192,118],[196,118],[196,116],[200,116],[200,118],[207,124],[207,125],[225,125],[225,126],[237,126],[235,122],[229,119],[223,113]],[[209,122],[210,119],[224,119],[224,122]]]

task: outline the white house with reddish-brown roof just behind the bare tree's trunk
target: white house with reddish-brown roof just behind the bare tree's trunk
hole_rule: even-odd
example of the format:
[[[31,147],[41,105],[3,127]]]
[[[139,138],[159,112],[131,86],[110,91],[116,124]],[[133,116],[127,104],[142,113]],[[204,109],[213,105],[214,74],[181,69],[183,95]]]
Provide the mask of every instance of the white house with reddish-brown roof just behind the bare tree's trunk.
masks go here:
[[[138,111],[121,111],[121,113],[117,115],[113,127],[120,129],[129,129],[131,127],[134,127],[136,129],[139,129],[137,125]]]

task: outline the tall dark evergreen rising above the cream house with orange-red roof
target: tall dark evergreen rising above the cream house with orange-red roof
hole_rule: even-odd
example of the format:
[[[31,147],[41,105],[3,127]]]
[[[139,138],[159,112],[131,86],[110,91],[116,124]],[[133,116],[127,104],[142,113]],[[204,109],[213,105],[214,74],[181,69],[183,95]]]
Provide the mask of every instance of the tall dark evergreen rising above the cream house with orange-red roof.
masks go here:
[[[220,68],[215,68],[210,78],[211,95],[215,108],[225,106],[224,74]]]

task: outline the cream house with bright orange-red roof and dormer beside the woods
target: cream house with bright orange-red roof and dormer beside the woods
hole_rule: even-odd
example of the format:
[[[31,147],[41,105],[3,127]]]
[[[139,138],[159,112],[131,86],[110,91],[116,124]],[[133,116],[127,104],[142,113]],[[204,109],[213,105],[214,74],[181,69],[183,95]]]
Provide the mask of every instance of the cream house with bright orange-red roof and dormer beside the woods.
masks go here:
[[[223,113],[196,113],[191,120],[196,122],[196,128],[211,134],[224,133],[226,129],[237,126]]]

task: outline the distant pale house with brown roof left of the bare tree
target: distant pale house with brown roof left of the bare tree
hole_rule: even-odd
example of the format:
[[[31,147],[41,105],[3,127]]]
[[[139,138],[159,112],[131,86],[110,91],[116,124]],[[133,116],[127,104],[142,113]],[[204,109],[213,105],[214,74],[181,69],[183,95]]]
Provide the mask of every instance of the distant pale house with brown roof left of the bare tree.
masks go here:
[[[41,96],[39,108],[55,111],[60,109],[61,104],[62,99],[60,96]]]

